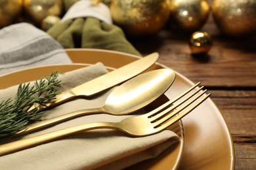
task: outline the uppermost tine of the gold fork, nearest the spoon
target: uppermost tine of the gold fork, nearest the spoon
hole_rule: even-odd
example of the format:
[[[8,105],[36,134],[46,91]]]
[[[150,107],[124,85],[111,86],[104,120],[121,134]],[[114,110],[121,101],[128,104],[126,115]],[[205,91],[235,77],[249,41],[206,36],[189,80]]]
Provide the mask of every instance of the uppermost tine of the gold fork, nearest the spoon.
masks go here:
[[[173,104],[175,101],[181,99],[181,97],[183,97],[184,95],[186,95],[187,93],[191,92],[194,88],[196,88],[201,82],[198,82],[197,84],[195,84],[194,86],[192,86],[191,88],[189,88],[188,90],[186,90],[185,92],[181,93],[180,95],[177,95],[177,97],[171,99],[170,101],[167,101],[166,103],[164,103],[163,105],[161,105],[160,107],[150,111],[147,113],[148,117],[150,116],[154,116],[154,114],[156,114],[157,112],[160,112],[161,110],[165,109],[165,107],[168,107],[169,105]]]

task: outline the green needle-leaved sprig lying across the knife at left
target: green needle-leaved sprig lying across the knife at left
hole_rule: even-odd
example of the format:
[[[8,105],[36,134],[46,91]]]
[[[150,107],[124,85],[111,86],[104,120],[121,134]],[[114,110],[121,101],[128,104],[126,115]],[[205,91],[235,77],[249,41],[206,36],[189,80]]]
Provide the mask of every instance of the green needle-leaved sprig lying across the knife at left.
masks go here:
[[[46,78],[41,78],[34,82],[20,84],[17,93],[13,99],[7,99],[0,102],[0,138],[13,135],[14,133],[25,129],[28,124],[41,120],[45,111],[39,110],[39,107],[32,106],[37,103],[39,106],[45,106],[47,103],[56,99],[60,94],[60,80],[58,73],[51,73]]]

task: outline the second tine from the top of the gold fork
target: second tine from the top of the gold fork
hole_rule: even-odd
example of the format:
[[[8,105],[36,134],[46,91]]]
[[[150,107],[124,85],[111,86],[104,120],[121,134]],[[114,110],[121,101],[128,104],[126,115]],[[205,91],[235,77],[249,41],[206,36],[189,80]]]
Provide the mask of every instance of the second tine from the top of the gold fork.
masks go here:
[[[160,113],[155,113],[154,115],[150,116],[150,118],[152,118],[152,122],[154,120],[158,120],[159,118],[161,118],[161,116],[165,115],[167,112],[179,107],[180,105],[182,105],[182,103],[186,102],[188,99],[190,99],[191,97],[193,97],[194,95],[196,95],[196,93],[198,93],[200,90],[202,90],[203,86],[200,87],[198,90],[196,90],[194,93],[188,95],[186,98],[182,99],[181,101],[179,101],[179,103],[176,103],[175,105],[172,105],[171,107],[163,110]]]

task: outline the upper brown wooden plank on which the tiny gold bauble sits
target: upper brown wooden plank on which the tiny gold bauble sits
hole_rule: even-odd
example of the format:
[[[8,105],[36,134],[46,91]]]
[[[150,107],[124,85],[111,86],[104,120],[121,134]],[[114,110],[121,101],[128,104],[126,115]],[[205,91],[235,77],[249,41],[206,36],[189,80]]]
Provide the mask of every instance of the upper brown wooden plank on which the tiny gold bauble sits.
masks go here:
[[[208,24],[208,23],[207,23]],[[213,19],[209,18],[209,25]],[[157,37],[131,40],[143,54],[160,52],[160,63],[186,75],[194,82],[208,87],[256,87],[256,38],[232,39],[205,25],[202,29],[213,37],[213,46],[207,56],[195,57],[190,53],[190,34],[161,31]],[[209,31],[208,31],[209,30]]]

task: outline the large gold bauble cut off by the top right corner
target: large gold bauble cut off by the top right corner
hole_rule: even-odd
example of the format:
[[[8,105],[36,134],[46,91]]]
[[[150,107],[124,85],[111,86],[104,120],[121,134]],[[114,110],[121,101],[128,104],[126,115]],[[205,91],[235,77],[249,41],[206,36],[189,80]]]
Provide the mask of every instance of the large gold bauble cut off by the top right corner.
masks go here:
[[[225,35],[256,35],[255,0],[214,0],[212,8],[215,23]]]

